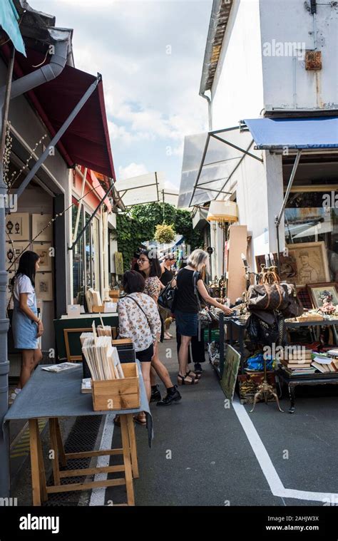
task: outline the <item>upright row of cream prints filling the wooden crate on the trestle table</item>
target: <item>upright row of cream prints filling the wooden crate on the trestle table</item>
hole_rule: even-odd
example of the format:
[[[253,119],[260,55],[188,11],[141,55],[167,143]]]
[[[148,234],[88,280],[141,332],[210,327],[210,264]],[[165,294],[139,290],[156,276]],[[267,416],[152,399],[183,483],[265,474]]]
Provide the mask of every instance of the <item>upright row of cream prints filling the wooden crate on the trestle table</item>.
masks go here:
[[[94,381],[124,378],[118,350],[112,346],[111,336],[94,334],[83,338],[82,352]]]

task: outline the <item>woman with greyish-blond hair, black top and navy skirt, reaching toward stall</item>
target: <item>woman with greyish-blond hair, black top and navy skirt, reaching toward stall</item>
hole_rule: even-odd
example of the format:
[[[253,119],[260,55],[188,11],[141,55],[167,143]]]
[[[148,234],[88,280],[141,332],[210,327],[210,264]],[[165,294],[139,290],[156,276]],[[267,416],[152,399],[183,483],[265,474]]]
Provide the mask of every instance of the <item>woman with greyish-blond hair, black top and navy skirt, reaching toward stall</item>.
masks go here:
[[[198,272],[196,286],[198,293],[204,301],[212,306],[222,309],[226,315],[232,310],[212,299],[200,277],[200,271],[208,261],[208,254],[202,249],[195,249],[188,257],[188,264],[178,272],[176,277],[177,289],[175,292],[175,320],[178,332],[181,335],[180,349],[178,351],[179,385],[194,385],[198,383],[195,374],[188,371],[188,349],[192,336],[198,334],[198,299],[194,291],[193,275]]]

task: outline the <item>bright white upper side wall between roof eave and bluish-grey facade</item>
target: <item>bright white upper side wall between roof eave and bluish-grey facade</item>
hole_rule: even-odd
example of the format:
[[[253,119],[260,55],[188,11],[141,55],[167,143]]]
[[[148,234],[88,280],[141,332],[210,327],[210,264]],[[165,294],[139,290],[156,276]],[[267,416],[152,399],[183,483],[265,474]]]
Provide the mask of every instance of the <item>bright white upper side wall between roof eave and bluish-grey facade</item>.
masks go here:
[[[257,118],[264,106],[258,0],[235,0],[212,86],[212,129]]]

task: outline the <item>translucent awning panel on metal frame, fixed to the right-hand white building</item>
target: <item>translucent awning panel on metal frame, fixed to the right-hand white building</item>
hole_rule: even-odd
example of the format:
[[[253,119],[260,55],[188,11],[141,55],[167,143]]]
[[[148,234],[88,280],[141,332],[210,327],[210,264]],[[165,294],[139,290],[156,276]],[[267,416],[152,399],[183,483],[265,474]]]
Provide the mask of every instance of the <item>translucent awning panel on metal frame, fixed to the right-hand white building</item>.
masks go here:
[[[184,140],[178,208],[224,199],[227,182],[245,155],[252,154],[250,132],[240,127],[188,135]]]

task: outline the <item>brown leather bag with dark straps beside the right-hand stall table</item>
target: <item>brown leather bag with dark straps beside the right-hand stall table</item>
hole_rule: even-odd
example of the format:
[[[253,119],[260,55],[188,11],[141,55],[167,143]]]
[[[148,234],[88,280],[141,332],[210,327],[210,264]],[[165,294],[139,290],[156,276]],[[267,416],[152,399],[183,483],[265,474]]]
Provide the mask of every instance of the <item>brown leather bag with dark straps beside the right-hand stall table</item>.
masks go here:
[[[301,316],[304,309],[293,284],[252,285],[248,289],[249,310],[279,310],[284,317]]]

